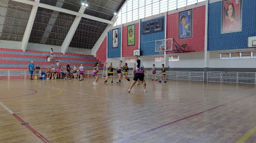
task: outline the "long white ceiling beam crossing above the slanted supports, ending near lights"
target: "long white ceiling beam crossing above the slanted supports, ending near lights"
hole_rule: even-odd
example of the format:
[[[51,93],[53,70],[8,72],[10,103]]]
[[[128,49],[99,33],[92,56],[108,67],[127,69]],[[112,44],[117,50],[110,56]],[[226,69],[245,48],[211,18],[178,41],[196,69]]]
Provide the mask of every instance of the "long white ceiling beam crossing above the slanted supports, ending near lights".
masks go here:
[[[47,5],[47,4],[44,4],[44,3],[37,3],[37,2],[34,2],[34,1],[28,1],[28,0],[12,0],[12,1],[17,1],[19,3],[26,3],[28,5],[34,5],[34,6],[37,5],[40,8],[46,8],[48,10],[55,10],[55,11],[58,11],[58,12],[63,12],[63,13],[75,15],[75,16],[78,16],[78,17],[84,17],[86,19],[91,19],[93,21],[99,21],[99,22],[102,22],[102,23],[113,24],[113,21],[109,21],[109,20],[106,20],[106,19],[100,19],[98,17],[93,17],[89,14],[74,12],[72,10],[66,10],[64,8],[57,8],[56,6]]]

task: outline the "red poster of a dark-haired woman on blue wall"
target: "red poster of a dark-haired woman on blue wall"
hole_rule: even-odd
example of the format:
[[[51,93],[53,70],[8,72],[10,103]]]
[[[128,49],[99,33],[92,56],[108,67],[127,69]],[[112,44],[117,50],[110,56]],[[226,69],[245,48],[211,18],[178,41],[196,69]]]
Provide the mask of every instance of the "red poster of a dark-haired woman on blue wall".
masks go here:
[[[241,32],[241,0],[222,1],[221,33]]]

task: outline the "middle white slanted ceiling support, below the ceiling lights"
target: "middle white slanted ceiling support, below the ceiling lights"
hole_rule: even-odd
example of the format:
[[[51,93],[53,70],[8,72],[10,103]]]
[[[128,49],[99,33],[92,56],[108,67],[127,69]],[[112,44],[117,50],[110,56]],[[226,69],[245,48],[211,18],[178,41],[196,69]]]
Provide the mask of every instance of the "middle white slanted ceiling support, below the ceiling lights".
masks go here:
[[[80,10],[79,10],[79,13],[84,13],[84,10],[85,10],[85,7],[84,6],[81,6]],[[76,16],[75,17],[75,20],[73,21],[72,25],[71,25],[71,28],[69,29],[68,31],[68,34],[66,34],[66,38],[64,39],[63,43],[62,43],[62,53],[63,54],[66,54],[66,51],[68,50],[68,46],[69,44],[71,43],[72,39],[73,39],[73,36],[75,34],[75,31],[80,23],[82,19],[82,16]]]

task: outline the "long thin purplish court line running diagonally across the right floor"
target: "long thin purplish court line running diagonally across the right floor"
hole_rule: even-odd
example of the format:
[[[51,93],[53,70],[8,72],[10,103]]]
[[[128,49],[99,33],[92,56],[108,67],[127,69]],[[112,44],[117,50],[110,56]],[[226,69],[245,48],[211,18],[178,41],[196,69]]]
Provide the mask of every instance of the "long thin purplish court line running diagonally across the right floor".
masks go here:
[[[232,102],[237,102],[238,100],[241,100],[241,99],[244,99],[244,98],[248,98],[248,97],[251,97],[251,96],[255,96],[255,95],[256,95],[256,94],[251,94],[250,96],[245,96],[245,97],[243,97],[243,98],[238,98],[238,99],[236,99],[236,100],[231,100],[230,102],[226,102],[226,103],[221,104],[221,105],[219,105],[219,106],[217,106],[217,107],[213,107],[213,108],[211,108],[211,109],[208,109],[208,110],[205,110],[205,111],[201,111],[201,112],[199,112],[199,113],[195,113],[194,115],[189,115],[189,116],[187,116],[187,117],[185,117],[185,118],[181,118],[181,119],[179,119],[179,120],[175,120],[175,121],[173,121],[173,122],[169,122],[169,123],[167,123],[167,124],[163,124],[163,125],[161,125],[161,126],[157,126],[157,127],[153,128],[153,129],[149,129],[149,130],[147,130],[147,131],[143,131],[143,132],[141,132],[141,133],[137,133],[137,134],[135,134],[135,135],[131,135],[131,136],[129,136],[129,137],[122,138],[122,139],[118,140],[118,142],[125,142],[125,141],[127,141],[127,140],[130,140],[131,138],[138,137],[138,136],[140,136],[140,135],[143,135],[143,134],[145,134],[145,133],[149,133],[149,132],[154,131],[154,130],[157,130],[157,129],[161,129],[161,128],[164,127],[164,126],[168,126],[168,125],[170,125],[170,124],[174,124],[174,123],[176,123],[176,122],[180,122],[180,121],[182,121],[182,120],[185,120],[185,119],[188,119],[188,118],[192,118],[192,117],[194,117],[194,116],[196,116],[196,115],[200,115],[200,114],[202,114],[202,113],[211,111],[211,110],[213,110],[213,109],[217,109],[217,108],[219,108],[219,107],[223,107],[223,106],[225,106],[225,105],[227,105],[227,104],[230,104],[230,103],[232,103]]]

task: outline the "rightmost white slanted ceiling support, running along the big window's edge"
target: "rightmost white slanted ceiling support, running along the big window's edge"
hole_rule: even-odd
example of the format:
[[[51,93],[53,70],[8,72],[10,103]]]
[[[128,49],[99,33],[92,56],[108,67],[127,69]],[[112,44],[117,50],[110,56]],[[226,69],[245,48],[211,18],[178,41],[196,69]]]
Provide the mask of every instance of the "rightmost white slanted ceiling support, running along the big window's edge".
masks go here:
[[[125,1],[125,3],[127,3],[128,0]],[[125,5],[125,3],[122,5],[122,7]],[[116,19],[118,19],[118,14],[119,12],[122,11],[122,7],[120,8],[120,10],[118,11],[118,13],[116,14],[116,16],[114,16],[111,19],[112,24],[107,25],[107,28],[104,30],[104,32],[100,35],[100,38],[98,39],[98,41],[95,43],[95,45],[93,46],[93,49],[91,49],[91,54],[93,56],[96,56],[96,53],[101,45],[101,43],[104,41],[105,37],[107,36],[107,32],[109,32],[109,30],[111,30],[111,28],[113,27],[113,24],[116,22]]]

